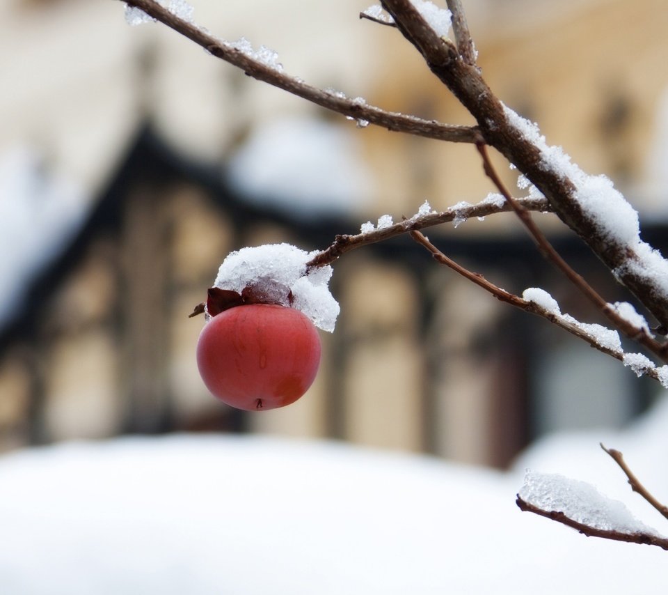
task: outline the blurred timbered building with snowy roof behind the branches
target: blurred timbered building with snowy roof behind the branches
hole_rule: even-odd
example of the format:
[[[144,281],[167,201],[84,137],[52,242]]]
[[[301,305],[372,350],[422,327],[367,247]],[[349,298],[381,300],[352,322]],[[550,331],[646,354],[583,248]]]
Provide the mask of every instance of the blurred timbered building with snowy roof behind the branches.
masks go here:
[[[198,24],[271,47],[312,84],[471,123],[397,31],[358,20],[366,2],[192,3]],[[665,2],[465,6],[491,88],[583,169],[613,178],[666,253]],[[307,396],[262,414],[215,401],[194,361],[202,320],[187,314],[230,250],[324,248],[367,219],[493,188],[470,146],[360,129],[123,12],[115,0],[0,4],[0,450],[254,431],[502,466],[536,435],[619,426],[651,401],[651,382],[406,238],[335,264],[342,314]],[[629,299],[572,233],[538,219],[608,300]],[[562,311],[601,322],[511,215],[429,236],[509,291],[546,288]]]

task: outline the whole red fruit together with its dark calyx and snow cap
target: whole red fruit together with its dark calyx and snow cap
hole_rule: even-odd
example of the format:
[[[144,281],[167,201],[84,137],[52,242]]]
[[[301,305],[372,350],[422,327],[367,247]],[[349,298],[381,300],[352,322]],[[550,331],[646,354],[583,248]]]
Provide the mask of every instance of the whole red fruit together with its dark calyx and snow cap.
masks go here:
[[[244,410],[294,403],[320,362],[316,327],[329,332],[339,305],[328,289],[331,267],[308,269],[313,254],[288,244],[232,252],[218,270],[197,345],[205,385]]]

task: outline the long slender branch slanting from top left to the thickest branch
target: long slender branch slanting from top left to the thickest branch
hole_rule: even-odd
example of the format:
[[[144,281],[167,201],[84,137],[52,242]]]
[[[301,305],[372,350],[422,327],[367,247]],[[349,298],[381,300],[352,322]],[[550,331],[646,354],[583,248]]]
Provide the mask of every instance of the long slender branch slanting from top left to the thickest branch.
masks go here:
[[[424,120],[417,116],[399,114],[395,111],[385,111],[379,107],[367,105],[360,100],[348,98],[343,93],[326,91],[306,84],[301,79],[291,77],[285,74],[285,72],[242,52],[241,49],[234,47],[234,45],[212,36],[207,31],[200,29],[196,24],[181,19],[154,0],[125,0],[125,2],[129,6],[140,8],[155,20],[177,31],[177,33],[181,33],[186,38],[189,38],[189,40],[206,49],[210,54],[237,68],[241,68],[241,70],[246,72],[246,75],[281,88],[288,93],[297,95],[338,114],[357,121],[366,121],[394,132],[406,132],[419,137],[440,141],[473,143],[479,138],[477,127],[447,125],[435,120]]]

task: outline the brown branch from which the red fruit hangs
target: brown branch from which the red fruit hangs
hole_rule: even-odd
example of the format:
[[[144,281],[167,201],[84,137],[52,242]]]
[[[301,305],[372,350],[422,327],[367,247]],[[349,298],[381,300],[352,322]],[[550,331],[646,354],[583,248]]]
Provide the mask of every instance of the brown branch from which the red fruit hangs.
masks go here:
[[[547,211],[550,206],[545,199],[516,199],[521,205],[528,210]],[[497,212],[508,212],[511,210],[509,203],[504,203],[502,206],[498,204],[482,201],[475,205],[464,207],[451,207],[443,212],[431,212],[428,215],[420,215],[419,217],[412,217],[405,219],[402,222],[394,225],[376,229],[369,233],[358,233],[356,235],[337,235],[334,242],[322,252],[316,254],[308,263],[309,267],[320,267],[333,263],[339,256],[350,252],[356,248],[382,242],[388,238],[394,238],[397,235],[415,231],[417,229],[424,229],[433,227],[442,223],[452,222],[455,219],[471,219],[472,217],[486,217],[486,215],[493,215]]]

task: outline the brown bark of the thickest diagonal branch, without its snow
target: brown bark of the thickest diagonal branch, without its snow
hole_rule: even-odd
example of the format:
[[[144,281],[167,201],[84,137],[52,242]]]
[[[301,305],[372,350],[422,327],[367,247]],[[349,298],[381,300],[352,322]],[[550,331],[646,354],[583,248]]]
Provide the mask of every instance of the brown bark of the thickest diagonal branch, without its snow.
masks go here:
[[[381,3],[434,75],[475,117],[486,144],[499,150],[547,197],[559,218],[587,242],[660,325],[668,327],[668,295],[658,288],[655,275],[642,266],[643,256],[637,247],[608,237],[596,217],[578,201],[576,180],[545,159],[543,147],[527,137],[525,128],[518,125],[518,116],[496,98],[479,70],[460,58],[450,40],[438,37],[410,0]]]

